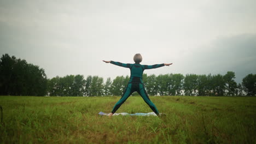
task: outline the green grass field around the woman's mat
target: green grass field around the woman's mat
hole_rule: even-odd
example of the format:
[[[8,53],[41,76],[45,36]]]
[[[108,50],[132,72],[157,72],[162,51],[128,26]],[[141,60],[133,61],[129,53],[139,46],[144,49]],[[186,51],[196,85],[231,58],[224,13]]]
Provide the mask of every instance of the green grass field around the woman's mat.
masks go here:
[[[256,143],[256,97],[150,97],[165,117],[100,116],[120,97],[0,97],[0,143]],[[117,111],[152,112],[141,97]]]

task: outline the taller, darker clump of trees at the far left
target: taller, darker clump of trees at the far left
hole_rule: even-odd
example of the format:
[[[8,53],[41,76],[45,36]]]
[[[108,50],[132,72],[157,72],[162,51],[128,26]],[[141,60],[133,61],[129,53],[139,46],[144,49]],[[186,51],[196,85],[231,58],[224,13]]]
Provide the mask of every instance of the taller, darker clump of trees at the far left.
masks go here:
[[[0,95],[47,94],[44,69],[5,54],[0,59]]]

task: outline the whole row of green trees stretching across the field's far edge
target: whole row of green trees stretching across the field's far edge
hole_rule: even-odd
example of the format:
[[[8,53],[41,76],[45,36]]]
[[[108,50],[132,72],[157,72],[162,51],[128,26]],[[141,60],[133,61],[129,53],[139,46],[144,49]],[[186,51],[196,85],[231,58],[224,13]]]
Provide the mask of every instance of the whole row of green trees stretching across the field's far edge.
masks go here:
[[[5,54],[0,59],[0,95],[104,96],[122,95],[129,76],[110,77],[66,75],[47,79],[44,69]],[[242,83],[235,73],[225,75],[143,74],[148,95],[255,95],[256,74],[248,74]],[[137,95],[138,93],[133,93]]]

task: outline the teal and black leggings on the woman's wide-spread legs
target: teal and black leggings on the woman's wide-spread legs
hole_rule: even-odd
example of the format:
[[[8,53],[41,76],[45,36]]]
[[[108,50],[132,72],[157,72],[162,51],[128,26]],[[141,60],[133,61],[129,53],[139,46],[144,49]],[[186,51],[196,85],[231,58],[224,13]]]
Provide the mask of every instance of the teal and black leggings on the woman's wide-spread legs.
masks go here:
[[[149,105],[150,109],[152,109],[156,115],[159,115],[158,109],[156,109],[155,105],[149,99],[148,94],[142,83],[129,83],[125,89],[125,92],[121,99],[115,104],[112,113],[115,113],[119,109],[119,107],[125,102],[125,100],[133,93],[138,92],[139,95],[143,98],[143,100]]]

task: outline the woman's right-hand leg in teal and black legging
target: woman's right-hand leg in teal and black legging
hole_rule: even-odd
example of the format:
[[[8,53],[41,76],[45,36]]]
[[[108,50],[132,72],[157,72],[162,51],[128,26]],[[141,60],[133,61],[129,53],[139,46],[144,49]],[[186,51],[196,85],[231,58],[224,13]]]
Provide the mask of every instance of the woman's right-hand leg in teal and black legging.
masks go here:
[[[149,99],[148,94],[147,94],[143,84],[139,83],[139,91],[137,91],[137,92],[139,93],[139,95],[141,95],[143,100],[148,104],[150,109],[152,109],[156,115],[159,115],[158,109],[156,108],[154,103],[152,103],[152,101]]]

